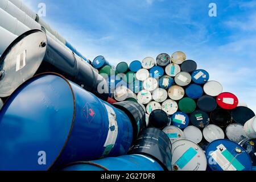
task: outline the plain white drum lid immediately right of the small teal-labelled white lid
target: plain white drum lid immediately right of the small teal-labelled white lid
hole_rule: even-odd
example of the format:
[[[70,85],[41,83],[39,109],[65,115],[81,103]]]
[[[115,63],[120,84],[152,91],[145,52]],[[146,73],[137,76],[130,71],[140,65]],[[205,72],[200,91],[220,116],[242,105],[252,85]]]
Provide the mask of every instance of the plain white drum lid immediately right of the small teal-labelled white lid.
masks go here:
[[[198,127],[188,126],[184,129],[185,138],[191,140],[194,143],[200,143],[203,139],[203,134]]]

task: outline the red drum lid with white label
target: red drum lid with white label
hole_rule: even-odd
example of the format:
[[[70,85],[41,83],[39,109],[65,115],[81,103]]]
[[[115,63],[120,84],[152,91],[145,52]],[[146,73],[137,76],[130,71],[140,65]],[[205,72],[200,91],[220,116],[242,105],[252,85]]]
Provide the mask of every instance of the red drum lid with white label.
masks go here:
[[[227,110],[235,109],[238,105],[238,98],[233,93],[224,92],[217,96],[217,104]]]

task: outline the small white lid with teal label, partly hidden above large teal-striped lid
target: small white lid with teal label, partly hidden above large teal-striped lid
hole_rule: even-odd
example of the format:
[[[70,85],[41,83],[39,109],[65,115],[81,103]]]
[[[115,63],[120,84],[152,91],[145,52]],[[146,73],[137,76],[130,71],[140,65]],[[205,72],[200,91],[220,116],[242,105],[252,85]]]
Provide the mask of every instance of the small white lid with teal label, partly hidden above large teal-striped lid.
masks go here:
[[[167,126],[163,129],[163,132],[170,138],[171,143],[177,140],[185,139],[184,132],[176,126]]]

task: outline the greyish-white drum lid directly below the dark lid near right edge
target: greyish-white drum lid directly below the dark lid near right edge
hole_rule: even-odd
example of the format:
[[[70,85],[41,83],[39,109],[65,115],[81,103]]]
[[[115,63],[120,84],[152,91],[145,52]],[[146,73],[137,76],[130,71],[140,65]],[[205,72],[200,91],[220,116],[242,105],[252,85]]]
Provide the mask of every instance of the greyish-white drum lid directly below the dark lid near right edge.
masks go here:
[[[247,138],[245,131],[243,131],[243,126],[238,123],[233,123],[226,127],[226,137],[236,143]]]

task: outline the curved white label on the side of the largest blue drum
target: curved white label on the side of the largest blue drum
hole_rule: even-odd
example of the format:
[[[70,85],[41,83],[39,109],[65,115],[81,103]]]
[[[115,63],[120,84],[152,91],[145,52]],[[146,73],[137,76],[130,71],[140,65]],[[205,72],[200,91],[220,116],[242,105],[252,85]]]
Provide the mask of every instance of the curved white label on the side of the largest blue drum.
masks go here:
[[[117,125],[117,115],[112,107],[105,105],[106,110],[108,111],[109,118],[109,132],[104,144],[105,150],[102,156],[107,156],[112,148],[114,147],[115,141],[117,140],[118,135],[118,125]]]

